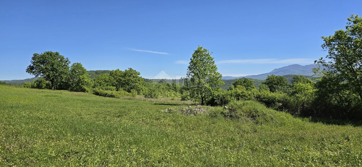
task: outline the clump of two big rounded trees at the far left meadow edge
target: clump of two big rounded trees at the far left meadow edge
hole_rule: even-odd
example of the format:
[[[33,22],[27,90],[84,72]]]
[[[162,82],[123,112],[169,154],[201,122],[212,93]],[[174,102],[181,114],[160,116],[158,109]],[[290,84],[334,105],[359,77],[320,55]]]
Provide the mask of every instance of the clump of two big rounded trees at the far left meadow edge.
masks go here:
[[[27,83],[26,87],[87,91],[87,88],[93,86],[93,80],[89,78],[83,65],[73,63],[69,66],[69,59],[59,52],[34,53],[30,63],[26,72],[41,78]]]

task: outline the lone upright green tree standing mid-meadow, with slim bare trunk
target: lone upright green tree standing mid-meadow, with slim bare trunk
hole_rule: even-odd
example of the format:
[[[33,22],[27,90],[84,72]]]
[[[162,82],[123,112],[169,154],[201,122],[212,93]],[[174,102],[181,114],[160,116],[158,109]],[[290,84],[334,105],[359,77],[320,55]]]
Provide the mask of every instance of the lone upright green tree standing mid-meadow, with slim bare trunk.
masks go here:
[[[224,84],[211,53],[202,46],[198,46],[192,54],[186,78],[184,78],[189,89],[200,95],[201,105],[213,89]]]

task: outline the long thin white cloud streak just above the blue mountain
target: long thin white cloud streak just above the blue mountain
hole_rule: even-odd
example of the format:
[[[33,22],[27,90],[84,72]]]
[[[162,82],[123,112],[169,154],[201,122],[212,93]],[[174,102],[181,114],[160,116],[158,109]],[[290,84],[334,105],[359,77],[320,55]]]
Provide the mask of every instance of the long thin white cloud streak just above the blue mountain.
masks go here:
[[[216,64],[313,64],[314,59],[234,59],[221,60]]]

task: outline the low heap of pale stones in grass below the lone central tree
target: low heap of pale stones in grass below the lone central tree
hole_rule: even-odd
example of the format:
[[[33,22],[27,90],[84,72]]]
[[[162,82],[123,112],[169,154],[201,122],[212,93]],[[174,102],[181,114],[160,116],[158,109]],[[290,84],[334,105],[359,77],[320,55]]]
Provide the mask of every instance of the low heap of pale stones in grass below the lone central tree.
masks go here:
[[[207,110],[209,110],[209,107],[198,105],[198,106],[168,108],[166,110],[163,110],[163,112],[179,113],[179,114],[184,114],[184,115],[190,116],[190,115],[204,114]]]

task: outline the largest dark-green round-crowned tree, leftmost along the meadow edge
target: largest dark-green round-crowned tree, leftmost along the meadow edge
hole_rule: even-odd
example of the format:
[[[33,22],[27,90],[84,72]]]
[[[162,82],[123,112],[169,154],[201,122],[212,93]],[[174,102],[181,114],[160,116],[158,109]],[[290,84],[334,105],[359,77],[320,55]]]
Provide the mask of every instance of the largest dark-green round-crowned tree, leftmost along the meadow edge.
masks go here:
[[[51,89],[54,90],[55,86],[64,87],[61,84],[66,83],[69,64],[69,59],[60,55],[59,52],[34,53],[26,72],[50,81]]]

